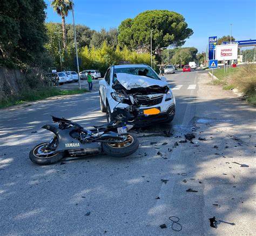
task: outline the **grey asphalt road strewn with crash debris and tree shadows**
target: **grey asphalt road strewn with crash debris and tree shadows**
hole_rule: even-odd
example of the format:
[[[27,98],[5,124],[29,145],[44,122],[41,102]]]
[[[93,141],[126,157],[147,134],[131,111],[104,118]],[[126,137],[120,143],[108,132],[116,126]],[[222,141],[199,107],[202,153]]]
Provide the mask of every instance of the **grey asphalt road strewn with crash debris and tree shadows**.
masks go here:
[[[0,110],[0,234],[253,234],[255,109],[207,85],[205,71],[166,77],[176,117],[170,125],[133,131],[140,147],[126,158],[100,155],[51,166],[29,160],[32,147],[51,137],[40,129],[50,115],[85,127],[106,122],[97,90]],[[173,135],[165,137],[169,130]],[[182,143],[191,131],[194,144]],[[172,216],[181,231],[174,231],[180,225],[172,225]],[[213,216],[222,220],[218,228],[210,227]]]

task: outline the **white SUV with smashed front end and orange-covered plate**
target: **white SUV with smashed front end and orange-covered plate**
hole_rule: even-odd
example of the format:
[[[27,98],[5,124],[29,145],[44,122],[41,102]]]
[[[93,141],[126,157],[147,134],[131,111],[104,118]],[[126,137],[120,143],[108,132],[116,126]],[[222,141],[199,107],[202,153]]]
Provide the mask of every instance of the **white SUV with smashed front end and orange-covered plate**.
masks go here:
[[[118,107],[129,112],[137,127],[174,118],[176,102],[166,78],[145,64],[110,66],[99,82],[99,95],[109,123],[118,117]]]

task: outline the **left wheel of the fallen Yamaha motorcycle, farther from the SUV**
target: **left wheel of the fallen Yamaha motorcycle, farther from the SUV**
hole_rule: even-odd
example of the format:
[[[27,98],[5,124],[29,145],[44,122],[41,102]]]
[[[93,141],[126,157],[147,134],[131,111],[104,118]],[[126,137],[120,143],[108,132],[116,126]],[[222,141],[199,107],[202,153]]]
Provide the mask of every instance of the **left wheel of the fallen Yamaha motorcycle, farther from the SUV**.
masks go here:
[[[65,155],[64,152],[54,152],[52,150],[47,150],[45,145],[48,142],[37,144],[29,152],[29,159],[38,165],[50,165],[57,163]]]

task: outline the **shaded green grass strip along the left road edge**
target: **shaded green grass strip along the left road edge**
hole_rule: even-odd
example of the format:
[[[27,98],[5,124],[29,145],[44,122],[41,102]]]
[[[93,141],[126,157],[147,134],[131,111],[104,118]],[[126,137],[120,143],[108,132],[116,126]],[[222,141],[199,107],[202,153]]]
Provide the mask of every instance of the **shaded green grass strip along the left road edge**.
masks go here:
[[[0,108],[22,104],[25,102],[33,102],[42,100],[49,97],[61,96],[61,95],[76,95],[80,93],[88,92],[86,89],[74,89],[74,90],[61,90],[55,87],[44,87],[43,89],[30,90],[23,92],[19,96],[9,96],[0,100]]]

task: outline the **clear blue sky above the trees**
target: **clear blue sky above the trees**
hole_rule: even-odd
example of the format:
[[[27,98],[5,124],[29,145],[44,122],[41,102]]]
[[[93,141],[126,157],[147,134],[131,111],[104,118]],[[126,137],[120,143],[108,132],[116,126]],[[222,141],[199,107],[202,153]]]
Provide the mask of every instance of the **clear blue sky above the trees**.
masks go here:
[[[61,22],[48,5],[46,22]],[[256,0],[73,0],[76,24],[91,29],[109,30],[126,18],[134,18],[146,10],[176,11],[185,17],[194,33],[184,46],[194,46],[199,52],[206,50],[209,36],[230,35],[237,40],[256,39]],[[72,23],[72,13],[66,19]]]

